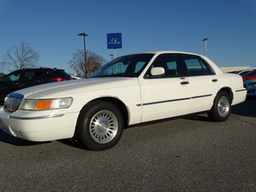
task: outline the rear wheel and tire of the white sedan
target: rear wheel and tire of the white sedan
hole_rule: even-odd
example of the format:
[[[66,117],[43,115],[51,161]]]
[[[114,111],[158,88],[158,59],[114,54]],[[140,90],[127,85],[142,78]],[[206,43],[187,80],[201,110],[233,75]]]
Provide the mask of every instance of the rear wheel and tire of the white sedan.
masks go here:
[[[231,104],[230,95],[221,91],[214,99],[214,105],[208,112],[208,116],[215,122],[224,122],[230,116]]]

